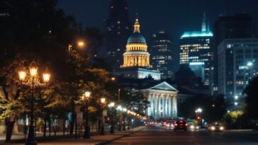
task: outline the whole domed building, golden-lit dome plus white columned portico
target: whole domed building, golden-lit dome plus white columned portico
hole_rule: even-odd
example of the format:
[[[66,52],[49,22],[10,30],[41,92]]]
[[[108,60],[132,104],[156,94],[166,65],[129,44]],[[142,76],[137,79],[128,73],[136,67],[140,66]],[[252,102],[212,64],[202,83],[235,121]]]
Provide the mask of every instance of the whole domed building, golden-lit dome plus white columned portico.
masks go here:
[[[141,93],[150,101],[150,106],[145,110],[148,117],[167,120],[177,116],[178,91],[166,81],[160,81],[161,74],[152,69],[138,18],[133,34],[128,37],[123,64],[113,74],[122,76],[118,78],[119,88],[132,89],[133,93]]]

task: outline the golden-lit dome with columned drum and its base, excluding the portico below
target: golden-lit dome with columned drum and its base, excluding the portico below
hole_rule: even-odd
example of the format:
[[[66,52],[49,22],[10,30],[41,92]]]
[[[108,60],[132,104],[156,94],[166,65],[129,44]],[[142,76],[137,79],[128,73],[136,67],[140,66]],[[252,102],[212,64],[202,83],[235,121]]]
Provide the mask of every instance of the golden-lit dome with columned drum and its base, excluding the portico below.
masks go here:
[[[152,77],[160,80],[159,71],[152,69],[150,64],[150,53],[147,52],[147,42],[140,33],[139,19],[136,18],[133,34],[128,37],[125,53],[123,53],[123,65],[116,75],[126,78],[145,79]]]

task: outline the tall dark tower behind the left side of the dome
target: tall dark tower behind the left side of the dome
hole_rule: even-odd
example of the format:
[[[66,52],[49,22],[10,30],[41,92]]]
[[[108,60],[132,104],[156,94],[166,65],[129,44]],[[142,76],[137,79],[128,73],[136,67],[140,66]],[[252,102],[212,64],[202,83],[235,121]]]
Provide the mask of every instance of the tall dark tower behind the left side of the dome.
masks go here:
[[[128,4],[125,0],[111,1],[109,18],[106,20],[106,59],[113,70],[119,69],[123,62],[123,52],[131,28]]]

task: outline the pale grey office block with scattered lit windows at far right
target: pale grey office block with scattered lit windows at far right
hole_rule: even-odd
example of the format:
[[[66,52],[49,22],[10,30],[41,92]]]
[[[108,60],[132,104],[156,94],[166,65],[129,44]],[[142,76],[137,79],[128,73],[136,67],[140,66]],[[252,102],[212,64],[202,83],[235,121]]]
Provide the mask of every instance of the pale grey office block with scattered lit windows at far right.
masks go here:
[[[257,75],[257,66],[257,38],[223,40],[218,45],[218,93],[229,100],[244,97],[242,92]]]

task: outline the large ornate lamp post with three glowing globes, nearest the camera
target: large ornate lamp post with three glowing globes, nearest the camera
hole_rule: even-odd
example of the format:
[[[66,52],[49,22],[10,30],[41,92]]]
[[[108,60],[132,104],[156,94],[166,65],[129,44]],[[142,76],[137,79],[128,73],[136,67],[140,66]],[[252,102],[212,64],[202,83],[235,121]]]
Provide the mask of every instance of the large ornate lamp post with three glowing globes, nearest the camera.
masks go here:
[[[34,136],[34,89],[35,87],[45,86],[50,81],[50,73],[45,71],[43,73],[44,83],[40,83],[40,76],[38,75],[38,66],[35,62],[31,62],[29,66],[30,76],[27,77],[26,70],[18,71],[19,79],[21,83],[26,86],[30,86],[31,101],[30,101],[30,127],[28,130],[28,138],[26,145],[36,145],[37,141]]]

